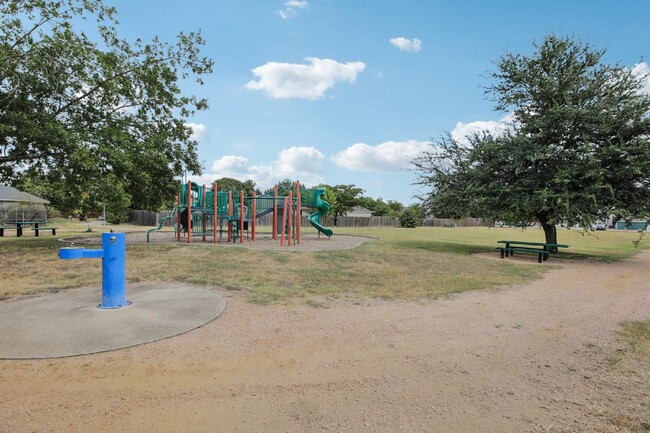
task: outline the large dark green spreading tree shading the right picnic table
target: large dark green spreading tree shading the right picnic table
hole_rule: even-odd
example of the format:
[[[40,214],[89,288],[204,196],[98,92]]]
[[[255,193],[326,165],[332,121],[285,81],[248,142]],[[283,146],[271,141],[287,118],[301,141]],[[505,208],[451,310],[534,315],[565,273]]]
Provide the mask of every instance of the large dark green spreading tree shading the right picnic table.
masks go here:
[[[647,77],[604,63],[605,50],[550,35],[530,55],[505,54],[487,93],[512,113],[503,134],[432,143],[414,163],[429,213],[591,227],[650,213]]]

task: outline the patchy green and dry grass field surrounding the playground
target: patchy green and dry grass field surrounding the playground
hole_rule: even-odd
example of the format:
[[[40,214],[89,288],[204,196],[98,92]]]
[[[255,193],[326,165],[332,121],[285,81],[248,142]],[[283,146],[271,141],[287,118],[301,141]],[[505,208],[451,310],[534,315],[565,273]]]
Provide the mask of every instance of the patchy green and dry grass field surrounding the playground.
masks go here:
[[[87,226],[57,220],[57,238],[78,236]],[[108,230],[95,226],[95,231]],[[144,231],[116,226],[116,231]],[[311,229],[305,229],[309,232]],[[0,298],[31,296],[61,289],[98,285],[100,260],[65,261],[57,257],[62,246],[49,234],[35,238],[0,238]],[[184,282],[245,291],[252,302],[307,302],[323,305],[323,298],[379,297],[427,299],[467,290],[485,290],[538,278],[548,266],[486,260],[473,253],[498,254],[499,239],[543,240],[539,229],[502,228],[339,228],[336,234],[371,236],[354,250],[273,252],[245,248],[178,245],[127,245],[127,281]],[[335,234],[335,236],[336,236]],[[15,235],[14,235],[15,236]],[[571,245],[560,260],[613,261],[637,253],[638,233],[559,232],[559,242]],[[640,248],[648,248],[648,242]]]

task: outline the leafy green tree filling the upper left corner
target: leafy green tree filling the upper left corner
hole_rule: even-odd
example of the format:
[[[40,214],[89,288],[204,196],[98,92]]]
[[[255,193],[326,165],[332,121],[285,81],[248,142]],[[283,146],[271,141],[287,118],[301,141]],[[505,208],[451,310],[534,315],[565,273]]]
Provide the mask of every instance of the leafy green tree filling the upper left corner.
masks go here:
[[[155,209],[201,173],[187,123],[207,102],[182,90],[212,70],[200,33],[128,42],[115,16],[101,0],[0,2],[0,181],[48,185],[64,211]]]

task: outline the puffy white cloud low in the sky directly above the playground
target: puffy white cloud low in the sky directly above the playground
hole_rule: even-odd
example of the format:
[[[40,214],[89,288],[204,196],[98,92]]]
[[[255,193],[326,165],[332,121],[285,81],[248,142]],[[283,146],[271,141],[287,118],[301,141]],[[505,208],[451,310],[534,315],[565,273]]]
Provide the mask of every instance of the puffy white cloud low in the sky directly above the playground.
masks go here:
[[[212,173],[201,176],[205,183],[212,183],[221,177],[232,177],[241,181],[251,179],[261,189],[290,178],[308,185],[324,181],[321,167],[325,156],[315,147],[290,147],[278,153],[278,158],[268,165],[253,165],[248,158],[226,155],[214,161]],[[196,182],[196,180],[195,180]]]

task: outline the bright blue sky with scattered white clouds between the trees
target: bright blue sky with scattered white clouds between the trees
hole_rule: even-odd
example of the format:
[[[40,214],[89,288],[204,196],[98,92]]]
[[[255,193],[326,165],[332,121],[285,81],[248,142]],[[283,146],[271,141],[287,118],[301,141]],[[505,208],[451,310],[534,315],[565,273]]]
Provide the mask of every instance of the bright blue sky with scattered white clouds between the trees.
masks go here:
[[[444,134],[498,128],[485,94],[494,62],[550,33],[649,71],[647,0],[105,0],[129,40],[201,30],[215,62],[184,91],[202,176],[353,184],[416,203],[411,160]],[[650,84],[648,87],[650,93]]]

